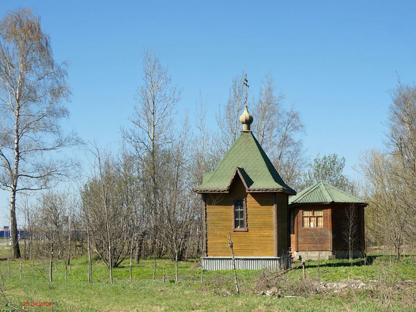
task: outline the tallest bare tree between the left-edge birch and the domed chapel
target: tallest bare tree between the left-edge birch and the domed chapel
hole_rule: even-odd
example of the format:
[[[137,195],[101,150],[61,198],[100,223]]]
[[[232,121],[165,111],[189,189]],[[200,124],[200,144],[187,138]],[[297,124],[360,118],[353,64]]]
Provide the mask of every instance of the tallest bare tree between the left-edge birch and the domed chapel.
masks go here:
[[[148,173],[149,183],[144,192],[148,193],[148,210],[152,219],[152,240],[158,256],[162,254],[161,239],[157,229],[160,219],[158,212],[160,152],[164,144],[173,140],[172,122],[180,91],[171,87],[167,67],[163,67],[153,51],[143,53],[143,84],[136,93],[137,105],[131,122],[133,128],[122,130],[124,139],[134,148],[143,168]],[[157,243],[158,242],[158,243]]]

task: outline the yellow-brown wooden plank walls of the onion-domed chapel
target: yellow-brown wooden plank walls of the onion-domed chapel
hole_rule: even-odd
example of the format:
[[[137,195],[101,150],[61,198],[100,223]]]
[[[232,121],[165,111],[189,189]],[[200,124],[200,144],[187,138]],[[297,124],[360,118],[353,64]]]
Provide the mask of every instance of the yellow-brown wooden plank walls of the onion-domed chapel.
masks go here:
[[[275,256],[275,193],[246,193],[239,178],[231,186],[230,193],[206,195],[208,257],[230,257],[228,232],[231,232],[236,257]],[[233,231],[232,205],[235,199],[246,198],[248,231]],[[287,195],[277,194],[277,240],[278,248],[287,250]],[[282,203],[286,202],[285,205]],[[280,216],[284,215],[283,220]],[[282,245],[280,245],[282,244]]]

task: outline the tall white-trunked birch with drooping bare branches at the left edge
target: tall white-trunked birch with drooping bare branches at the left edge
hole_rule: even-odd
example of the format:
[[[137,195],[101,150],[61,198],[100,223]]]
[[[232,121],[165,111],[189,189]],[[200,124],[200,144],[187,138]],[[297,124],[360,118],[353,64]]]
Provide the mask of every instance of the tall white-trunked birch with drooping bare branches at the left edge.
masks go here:
[[[0,21],[0,186],[10,191],[14,257],[21,256],[16,194],[46,188],[66,176],[68,159],[47,156],[78,143],[62,134],[59,121],[69,116],[62,102],[70,91],[65,64],[53,60],[49,36],[30,9],[8,12]]]

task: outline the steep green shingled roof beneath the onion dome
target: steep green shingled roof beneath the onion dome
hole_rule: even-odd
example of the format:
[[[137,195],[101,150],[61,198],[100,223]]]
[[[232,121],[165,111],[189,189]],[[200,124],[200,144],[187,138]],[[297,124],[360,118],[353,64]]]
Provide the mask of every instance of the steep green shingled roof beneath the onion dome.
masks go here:
[[[248,192],[282,191],[296,194],[280,178],[252,132],[240,133],[217,168],[205,174],[202,183],[194,191],[226,192],[237,176],[242,179]]]

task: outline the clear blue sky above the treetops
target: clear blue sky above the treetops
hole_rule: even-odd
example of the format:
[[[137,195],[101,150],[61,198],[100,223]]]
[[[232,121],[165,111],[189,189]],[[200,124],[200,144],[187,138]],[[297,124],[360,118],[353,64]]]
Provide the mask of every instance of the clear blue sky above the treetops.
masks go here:
[[[128,126],[144,48],[183,88],[179,112],[193,120],[203,93],[212,129],[233,76],[245,70],[257,94],[272,71],[285,105],[300,111],[307,155],[345,156],[353,177],[360,153],[382,147],[397,74],[415,80],[414,1],[2,0],[0,13],[18,7],[41,16],[55,59],[70,62],[66,129],[101,146],[116,146]],[[7,205],[0,193],[0,221]]]

